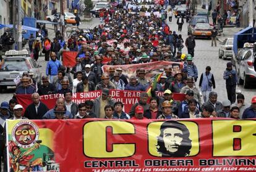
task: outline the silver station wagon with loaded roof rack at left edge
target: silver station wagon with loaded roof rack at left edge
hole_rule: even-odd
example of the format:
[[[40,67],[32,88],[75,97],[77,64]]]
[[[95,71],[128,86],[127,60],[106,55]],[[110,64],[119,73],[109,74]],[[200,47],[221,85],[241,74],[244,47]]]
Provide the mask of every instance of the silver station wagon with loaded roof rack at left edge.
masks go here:
[[[26,50],[23,50],[25,52]],[[10,52],[10,51],[9,51]],[[28,57],[28,52],[19,53],[20,51],[14,51],[14,55],[6,55],[8,57],[4,57],[2,60],[2,64],[0,67],[0,90],[7,89],[7,86],[16,86],[14,83],[14,79],[17,76],[22,77],[23,72],[31,71],[34,73],[33,78],[36,79],[37,82],[41,81],[41,65],[37,65],[35,60]]]

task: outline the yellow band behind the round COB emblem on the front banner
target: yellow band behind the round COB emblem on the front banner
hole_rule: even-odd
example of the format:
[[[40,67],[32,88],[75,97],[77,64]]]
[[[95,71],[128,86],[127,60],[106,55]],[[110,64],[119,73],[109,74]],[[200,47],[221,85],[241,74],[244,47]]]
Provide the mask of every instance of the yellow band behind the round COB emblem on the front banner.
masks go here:
[[[10,136],[12,134],[12,129],[20,121],[22,121],[22,120],[7,120],[7,123],[8,123],[8,125],[7,125],[8,126],[7,133],[9,135],[9,138],[10,138]],[[34,123],[34,124],[36,125],[36,123]],[[53,139],[54,139],[54,131],[53,130],[48,129],[48,128],[39,128],[38,140],[42,141],[40,143],[41,145],[45,145],[46,147],[49,147],[49,149],[53,150]]]

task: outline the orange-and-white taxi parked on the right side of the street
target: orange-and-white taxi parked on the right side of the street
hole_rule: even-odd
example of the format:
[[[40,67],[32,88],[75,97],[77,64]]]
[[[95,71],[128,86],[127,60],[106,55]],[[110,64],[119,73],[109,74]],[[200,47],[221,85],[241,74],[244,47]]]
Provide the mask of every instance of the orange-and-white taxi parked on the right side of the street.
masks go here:
[[[208,23],[197,23],[192,28],[192,35],[194,37],[211,38],[211,30],[213,28]]]

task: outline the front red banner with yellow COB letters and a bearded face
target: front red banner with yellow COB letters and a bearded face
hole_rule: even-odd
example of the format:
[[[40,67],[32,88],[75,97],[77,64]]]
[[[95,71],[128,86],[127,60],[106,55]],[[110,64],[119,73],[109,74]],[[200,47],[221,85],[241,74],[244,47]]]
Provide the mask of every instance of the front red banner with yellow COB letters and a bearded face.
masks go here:
[[[255,120],[7,120],[13,171],[256,171]],[[228,136],[228,137],[227,137]]]

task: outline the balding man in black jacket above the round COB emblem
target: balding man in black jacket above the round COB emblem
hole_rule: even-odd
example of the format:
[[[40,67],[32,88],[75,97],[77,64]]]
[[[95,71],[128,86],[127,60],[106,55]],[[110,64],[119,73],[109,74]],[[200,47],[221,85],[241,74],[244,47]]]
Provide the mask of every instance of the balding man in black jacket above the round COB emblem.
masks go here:
[[[33,102],[26,108],[24,117],[30,120],[43,119],[43,115],[49,110],[48,107],[43,102],[40,102],[40,96],[37,92],[34,92],[31,98]]]

